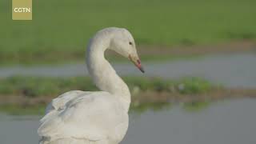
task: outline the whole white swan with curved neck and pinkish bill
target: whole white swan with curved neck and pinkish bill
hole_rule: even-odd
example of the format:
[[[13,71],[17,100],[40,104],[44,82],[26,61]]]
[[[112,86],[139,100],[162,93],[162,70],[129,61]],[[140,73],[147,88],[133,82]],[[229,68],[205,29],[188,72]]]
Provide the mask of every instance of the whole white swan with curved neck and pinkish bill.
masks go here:
[[[86,63],[102,91],[69,91],[54,98],[40,120],[41,144],[118,144],[128,129],[130,90],[104,58],[106,49],[129,58],[144,72],[134,38],[122,28],[98,31],[87,47]],[[86,83],[85,83],[86,85]]]

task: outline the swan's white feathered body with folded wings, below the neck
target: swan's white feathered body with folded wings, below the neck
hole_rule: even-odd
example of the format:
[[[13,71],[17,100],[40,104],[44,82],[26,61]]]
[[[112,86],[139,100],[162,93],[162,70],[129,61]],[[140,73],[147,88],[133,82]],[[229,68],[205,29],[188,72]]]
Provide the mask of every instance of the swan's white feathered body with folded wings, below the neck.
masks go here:
[[[54,98],[40,122],[41,144],[115,144],[126,134],[128,114],[107,92],[75,90]]]

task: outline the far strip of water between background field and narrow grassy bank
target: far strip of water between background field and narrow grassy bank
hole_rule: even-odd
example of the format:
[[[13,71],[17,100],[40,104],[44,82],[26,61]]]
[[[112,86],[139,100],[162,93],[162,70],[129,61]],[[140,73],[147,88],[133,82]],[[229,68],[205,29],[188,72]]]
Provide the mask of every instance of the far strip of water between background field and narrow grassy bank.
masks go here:
[[[193,60],[144,63],[141,74],[131,63],[114,64],[118,74],[162,78],[201,77],[226,87],[256,88],[255,54],[218,54]],[[88,75],[85,64],[64,66],[2,67],[0,78],[12,75],[71,77]]]

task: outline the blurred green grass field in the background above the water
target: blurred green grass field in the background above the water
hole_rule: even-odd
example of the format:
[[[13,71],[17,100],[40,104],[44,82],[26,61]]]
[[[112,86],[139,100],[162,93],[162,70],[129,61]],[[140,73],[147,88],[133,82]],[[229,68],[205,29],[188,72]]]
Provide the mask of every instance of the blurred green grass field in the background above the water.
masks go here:
[[[0,64],[82,60],[107,26],[129,29],[139,45],[194,45],[256,38],[254,0],[34,1],[33,21],[11,20],[0,2]]]

